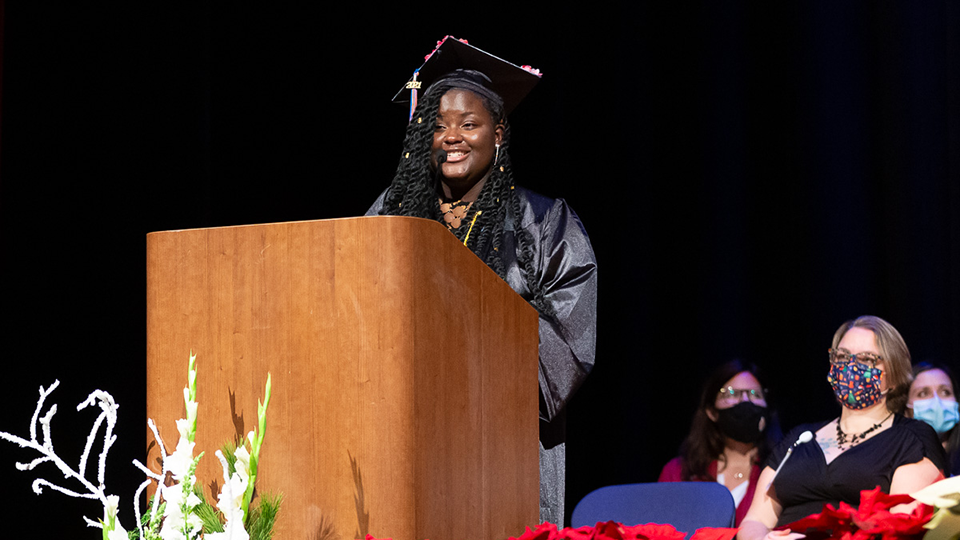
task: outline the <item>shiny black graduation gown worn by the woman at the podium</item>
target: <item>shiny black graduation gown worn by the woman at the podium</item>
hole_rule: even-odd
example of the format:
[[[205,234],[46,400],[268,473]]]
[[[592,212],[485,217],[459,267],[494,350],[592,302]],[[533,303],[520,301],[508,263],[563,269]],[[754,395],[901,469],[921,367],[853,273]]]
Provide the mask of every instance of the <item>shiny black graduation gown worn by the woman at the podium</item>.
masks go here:
[[[537,285],[547,313],[540,313],[540,520],[563,525],[567,401],[594,363],[597,327],[597,264],[590,239],[573,209],[517,187],[520,227],[533,241]],[[386,192],[367,210],[377,215]],[[508,207],[510,209],[510,207]],[[503,227],[505,281],[528,302],[533,291],[518,264],[512,209]],[[476,231],[474,234],[477,234]],[[485,254],[477,254],[485,260]]]

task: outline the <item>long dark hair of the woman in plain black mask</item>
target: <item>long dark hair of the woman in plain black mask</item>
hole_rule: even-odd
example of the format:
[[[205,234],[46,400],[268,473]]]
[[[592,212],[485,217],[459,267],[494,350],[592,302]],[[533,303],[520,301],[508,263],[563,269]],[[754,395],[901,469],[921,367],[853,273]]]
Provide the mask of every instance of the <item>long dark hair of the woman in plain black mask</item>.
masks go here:
[[[710,464],[714,460],[723,459],[725,438],[716,422],[710,419],[707,411],[716,412],[716,400],[720,388],[735,375],[748,372],[763,385],[763,378],[759,368],[743,360],[731,360],[717,367],[707,378],[700,393],[700,405],[693,415],[690,433],[680,446],[680,455],[683,457],[681,478],[685,481],[716,481],[716,477],[709,474]],[[764,436],[757,442],[756,463],[763,463],[770,450],[780,441],[783,434],[776,411],[771,406],[767,396],[769,417]]]

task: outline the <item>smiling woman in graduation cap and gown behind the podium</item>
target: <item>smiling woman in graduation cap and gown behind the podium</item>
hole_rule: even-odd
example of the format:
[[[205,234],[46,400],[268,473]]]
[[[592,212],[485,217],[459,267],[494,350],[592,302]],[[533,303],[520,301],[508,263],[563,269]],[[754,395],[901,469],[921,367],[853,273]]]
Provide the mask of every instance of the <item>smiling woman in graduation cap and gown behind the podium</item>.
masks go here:
[[[507,115],[539,79],[444,38],[394,98],[410,99],[410,123],[367,215],[440,221],[540,314],[540,519],[562,526],[564,410],[594,363],[597,274],[567,203],[514,182]]]

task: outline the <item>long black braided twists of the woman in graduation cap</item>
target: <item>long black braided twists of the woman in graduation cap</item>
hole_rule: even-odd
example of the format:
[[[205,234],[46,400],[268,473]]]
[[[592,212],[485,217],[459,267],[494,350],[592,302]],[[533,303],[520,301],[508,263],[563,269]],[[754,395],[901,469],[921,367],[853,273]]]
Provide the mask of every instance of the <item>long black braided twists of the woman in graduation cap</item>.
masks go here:
[[[467,234],[467,247],[483,259],[501,278],[506,278],[506,269],[501,258],[504,224],[508,215],[512,215],[513,230],[517,239],[517,264],[532,293],[530,303],[542,315],[549,313],[544,300],[543,290],[539,286],[534,264],[533,237],[520,226],[523,211],[520,197],[515,190],[513,168],[510,163],[510,125],[503,112],[499,99],[491,99],[458,84],[456,78],[448,78],[433,84],[419,101],[413,112],[410,125],[403,141],[400,163],[390,187],[384,196],[380,215],[413,216],[442,221],[440,199],[434,184],[434,173],[430,165],[430,152],[437,124],[437,111],[440,99],[453,89],[469,90],[477,94],[495,123],[503,126],[503,140],[500,144],[496,162],[487,177],[480,195],[471,210],[478,215],[473,226],[461,226],[451,229],[456,237],[464,242]],[[510,205],[511,212],[507,212]]]

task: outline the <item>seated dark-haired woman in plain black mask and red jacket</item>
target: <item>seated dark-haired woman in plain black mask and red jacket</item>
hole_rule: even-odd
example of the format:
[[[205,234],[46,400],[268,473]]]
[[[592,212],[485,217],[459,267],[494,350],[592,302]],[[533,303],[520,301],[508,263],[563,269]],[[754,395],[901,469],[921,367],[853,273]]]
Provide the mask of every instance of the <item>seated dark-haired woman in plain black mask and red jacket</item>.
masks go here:
[[[732,360],[707,379],[680,456],[664,466],[658,481],[723,484],[737,505],[739,525],[753,500],[761,465],[780,435],[757,366]]]

